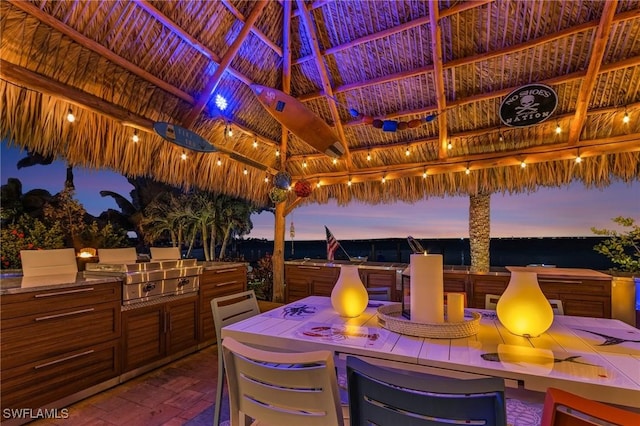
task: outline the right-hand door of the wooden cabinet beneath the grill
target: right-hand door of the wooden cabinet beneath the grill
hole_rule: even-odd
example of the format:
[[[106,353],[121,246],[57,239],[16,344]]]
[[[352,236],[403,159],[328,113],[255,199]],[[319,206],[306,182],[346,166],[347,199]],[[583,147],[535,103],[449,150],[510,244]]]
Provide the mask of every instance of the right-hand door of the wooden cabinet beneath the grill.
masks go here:
[[[165,307],[167,324],[167,355],[198,344],[198,298],[196,296],[168,302]]]

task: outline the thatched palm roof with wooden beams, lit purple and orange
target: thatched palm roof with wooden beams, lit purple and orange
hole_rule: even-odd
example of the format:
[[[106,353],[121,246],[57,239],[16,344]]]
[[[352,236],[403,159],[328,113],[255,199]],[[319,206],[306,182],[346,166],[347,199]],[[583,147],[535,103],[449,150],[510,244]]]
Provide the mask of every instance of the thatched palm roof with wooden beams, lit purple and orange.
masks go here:
[[[277,170],[313,184],[305,201],[339,203],[640,179],[637,0],[5,0],[0,19],[2,136],[73,165],[260,203]],[[301,100],[346,153],[334,163],[283,132],[253,83]],[[557,93],[552,116],[502,124],[502,101],[531,83]],[[181,161],[153,131],[161,121],[261,167]]]

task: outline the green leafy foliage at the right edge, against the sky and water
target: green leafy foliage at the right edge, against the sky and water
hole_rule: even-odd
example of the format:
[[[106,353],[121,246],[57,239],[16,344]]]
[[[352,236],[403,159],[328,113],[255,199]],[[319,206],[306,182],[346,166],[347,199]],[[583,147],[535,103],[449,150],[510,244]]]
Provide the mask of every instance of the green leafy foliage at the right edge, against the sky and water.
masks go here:
[[[595,251],[607,256],[616,270],[622,272],[640,272],[640,225],[630,217],[618,216],[612,219],[623,231],[591,228],[596,235],[609,237],[593,247]]]

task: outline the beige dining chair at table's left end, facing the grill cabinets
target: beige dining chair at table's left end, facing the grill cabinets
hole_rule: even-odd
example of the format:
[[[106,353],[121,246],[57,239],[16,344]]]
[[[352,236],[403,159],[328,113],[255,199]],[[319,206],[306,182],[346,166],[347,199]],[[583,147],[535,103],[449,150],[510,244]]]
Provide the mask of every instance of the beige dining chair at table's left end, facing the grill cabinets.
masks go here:
[[[213,413],[213,424],[217,426],[220,424],[222,387],[224,386],[222,327],[258,315],[260,308],[258,307],[258,301],[254,291],[248,290],[211,299],[211,313],[213,314],[213,325],[216,329],[216,342],[218,344],[218,383],[216,388],[216,405]]]

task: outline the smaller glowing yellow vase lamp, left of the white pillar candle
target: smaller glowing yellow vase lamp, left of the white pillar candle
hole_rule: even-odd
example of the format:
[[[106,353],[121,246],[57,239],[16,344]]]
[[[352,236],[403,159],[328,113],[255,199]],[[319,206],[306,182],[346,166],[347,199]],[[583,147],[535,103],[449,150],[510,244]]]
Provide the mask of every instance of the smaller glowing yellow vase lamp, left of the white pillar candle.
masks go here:
[[[364,288],[358,267],[342,265],[340,276],[331,291],[331,305],[342,317],[357,317],[367,308],[369,294]]]

